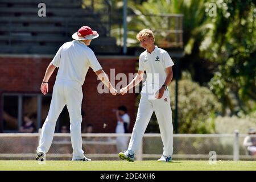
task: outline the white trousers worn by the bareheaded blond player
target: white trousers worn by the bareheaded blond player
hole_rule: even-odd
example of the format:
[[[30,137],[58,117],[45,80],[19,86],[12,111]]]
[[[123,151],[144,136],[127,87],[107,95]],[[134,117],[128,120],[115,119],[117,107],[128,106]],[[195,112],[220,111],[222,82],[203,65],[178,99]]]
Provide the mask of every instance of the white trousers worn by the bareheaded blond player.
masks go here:
[[[163,155],[172,155],[174,129],[172,126],[172,110],[168,90],[164,91],[162,98],[155,100],[149,100],[147,94],[141,94],[137,118],[133,127],[133,133],[131,134],[128,150],[132,150],[135,153],[138,151],[139,144],[142,141],[143,134],[146,131],[153,111],[155,111],[156,119],[158,119],[163,142]]]

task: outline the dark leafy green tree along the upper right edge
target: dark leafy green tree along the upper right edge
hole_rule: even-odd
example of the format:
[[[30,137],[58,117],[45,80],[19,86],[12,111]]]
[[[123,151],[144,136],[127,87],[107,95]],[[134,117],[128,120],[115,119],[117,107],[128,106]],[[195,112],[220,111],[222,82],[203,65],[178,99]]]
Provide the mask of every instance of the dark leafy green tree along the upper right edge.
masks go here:
[[[253,1],[217,1],[217,16],[201,44],[201,56],[218,64],[210,89],[232,114],[249,113],[256,100],[256,11]],[[233,99],[234,98],[234,99]],[[234,103],[236,100],[237,102]]]

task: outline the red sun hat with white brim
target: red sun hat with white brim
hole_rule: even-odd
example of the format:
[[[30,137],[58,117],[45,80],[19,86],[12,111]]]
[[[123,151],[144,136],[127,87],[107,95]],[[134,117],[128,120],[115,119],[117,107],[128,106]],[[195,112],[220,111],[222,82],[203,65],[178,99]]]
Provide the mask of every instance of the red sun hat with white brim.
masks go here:
[[[88,27],[88,26],[82,26],[81,28],[79,28],[79,31],[75,32],[72,35],[72,38],[75,40],[88,40],[88,39],[95,39],[97,38],[98,32],[92,30],[92,28]]]

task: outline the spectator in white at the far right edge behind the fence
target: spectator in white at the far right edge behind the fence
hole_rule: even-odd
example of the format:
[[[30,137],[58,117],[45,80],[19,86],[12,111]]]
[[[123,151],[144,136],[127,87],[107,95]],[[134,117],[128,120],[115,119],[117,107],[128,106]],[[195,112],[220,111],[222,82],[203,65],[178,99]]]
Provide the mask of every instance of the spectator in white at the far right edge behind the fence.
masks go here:
[[[256,137],[251,136],[256,134],[255,129],[250,128],[248,134],[249,135],[243,140],[243,146],[247,147],[249,155],[256,155]]]

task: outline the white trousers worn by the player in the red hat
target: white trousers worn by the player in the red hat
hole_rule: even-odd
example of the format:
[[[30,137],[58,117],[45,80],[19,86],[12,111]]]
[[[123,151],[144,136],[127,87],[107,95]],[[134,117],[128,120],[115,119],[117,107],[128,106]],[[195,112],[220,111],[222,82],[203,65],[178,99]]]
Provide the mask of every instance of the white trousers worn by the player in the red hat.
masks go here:
[[[84,158],[81,136],[81,104],[82,86],[74,80],[57,78],[53,86],[52,100],[46,121],[43,124],[37,152],[48,152],[52,144],[56,121],[64,106],[67,105],[70,118],[71,143],[73,147],[73,159]]]

